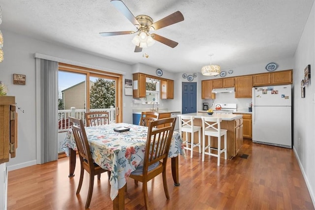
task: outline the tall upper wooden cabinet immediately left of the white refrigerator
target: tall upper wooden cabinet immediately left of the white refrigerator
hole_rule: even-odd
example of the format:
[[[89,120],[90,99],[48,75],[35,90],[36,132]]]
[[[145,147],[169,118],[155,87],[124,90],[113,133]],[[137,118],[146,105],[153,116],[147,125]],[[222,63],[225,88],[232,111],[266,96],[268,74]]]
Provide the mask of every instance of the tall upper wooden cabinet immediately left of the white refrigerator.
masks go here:
[[[235,77],[235,98],[252,98],[252,75]]]

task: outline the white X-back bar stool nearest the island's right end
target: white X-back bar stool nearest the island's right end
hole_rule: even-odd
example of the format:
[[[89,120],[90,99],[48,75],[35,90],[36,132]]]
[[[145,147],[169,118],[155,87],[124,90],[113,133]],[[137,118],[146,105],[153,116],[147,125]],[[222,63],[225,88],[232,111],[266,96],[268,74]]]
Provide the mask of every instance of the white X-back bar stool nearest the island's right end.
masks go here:
[[[227,159],[227,130],[221,129],[221,118],[202,117],[202,161],[205,161],[205,154],[218,157],[218,166],[220,166],[221,153],[224,152],[224,159]],[[215,127],[216,126],[216,127]],[[206,136],[208,136],[208,146],[205,147]],[[218,137],[218,149],[211,148],[211,137]],[[221,150],[221,136],[224,136],[224,148]],[[208,152],[206,150],[208,149]],[[212,153],[211,150],[217,150],[218,153]]]

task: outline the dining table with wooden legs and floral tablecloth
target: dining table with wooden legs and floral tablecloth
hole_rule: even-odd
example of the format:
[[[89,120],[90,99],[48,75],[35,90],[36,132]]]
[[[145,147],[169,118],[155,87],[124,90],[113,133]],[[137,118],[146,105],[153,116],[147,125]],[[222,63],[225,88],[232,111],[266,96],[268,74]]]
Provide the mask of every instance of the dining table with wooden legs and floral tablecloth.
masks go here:
[[[115,128],[129,128],[125,132],[114,131]],[[110,173],[110,198],[114,210],[125,209],[124,186],[131,172],[143,165],[148,127],[112,123],[85,127],[93,160]],[[69,177],[74,176],[76,164],[76,144],[72,129],[66,132],[62,149],[69,156]],[[171,158],[171,170],[174,185],[179,186],[178,155],[186,159],[183,141],[179,132],[174,131],[168,157]]]

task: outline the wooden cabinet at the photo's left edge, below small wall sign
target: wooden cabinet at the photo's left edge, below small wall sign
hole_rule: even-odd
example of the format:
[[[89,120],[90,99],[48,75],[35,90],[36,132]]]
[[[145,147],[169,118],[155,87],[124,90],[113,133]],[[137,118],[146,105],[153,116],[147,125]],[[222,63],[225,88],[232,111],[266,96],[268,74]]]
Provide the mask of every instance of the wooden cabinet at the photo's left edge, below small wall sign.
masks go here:
[[[0,96],[0,164],[15,157],[17,148],[17,114],[15,97]]]

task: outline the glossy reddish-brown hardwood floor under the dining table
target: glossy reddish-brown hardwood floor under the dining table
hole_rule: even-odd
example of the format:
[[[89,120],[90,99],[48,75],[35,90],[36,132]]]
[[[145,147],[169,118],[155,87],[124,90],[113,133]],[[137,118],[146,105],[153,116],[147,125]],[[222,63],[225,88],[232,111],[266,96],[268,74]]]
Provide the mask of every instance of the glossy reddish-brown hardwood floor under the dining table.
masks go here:
[[[18,151],[17,151],[18,152]],[[248,158],[240,155],[248,154]],[[77,161],[79,163],[79,161]],[[148,183],[152,209],[168,210],[314,210],[309,191],[293,150],[253,144],[244,140],[241,152],[232,160],[221,160],[195,151],[193,158],[180,156],[180,183],[173,185],[170,170],[166,200],[162,177]],[[43,165],[35,165],[8,174],[8,210],[84,210],[88,190],[88,174],[79,195],[75,194],[79,181],[79,167],[68,178],[68,158]],[[142,184],[127,182],[125,208],[144,209]],[[95,178],[91,210],[113,208],[109,197],[107,174]]]

